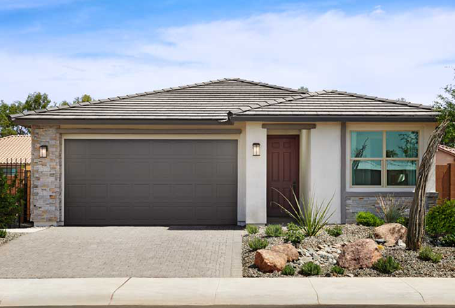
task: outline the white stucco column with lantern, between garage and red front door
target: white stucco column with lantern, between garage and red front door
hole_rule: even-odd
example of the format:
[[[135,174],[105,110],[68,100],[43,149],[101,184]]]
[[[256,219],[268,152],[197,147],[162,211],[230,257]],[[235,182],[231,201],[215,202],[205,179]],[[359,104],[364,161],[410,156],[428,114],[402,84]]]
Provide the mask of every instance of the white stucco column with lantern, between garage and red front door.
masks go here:
[[[246,223],[267,223],[267,130],[262,123],[246,123]],[[253,156],[253,144],[260,156]]]

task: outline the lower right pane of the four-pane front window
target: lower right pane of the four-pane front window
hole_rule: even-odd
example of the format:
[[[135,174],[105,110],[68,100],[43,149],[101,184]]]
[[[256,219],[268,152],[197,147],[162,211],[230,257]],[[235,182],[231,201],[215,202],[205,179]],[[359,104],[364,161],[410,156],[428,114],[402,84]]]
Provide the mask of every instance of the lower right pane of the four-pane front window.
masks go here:
[[[416,160],[387,160],[387,186],[415,186]]]

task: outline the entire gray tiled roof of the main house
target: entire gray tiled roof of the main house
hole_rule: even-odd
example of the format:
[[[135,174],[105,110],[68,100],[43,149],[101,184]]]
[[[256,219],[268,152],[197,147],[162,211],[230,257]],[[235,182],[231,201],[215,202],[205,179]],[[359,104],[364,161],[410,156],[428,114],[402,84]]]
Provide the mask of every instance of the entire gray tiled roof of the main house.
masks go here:
[[[386,118],[435,120],[430,106],[335,90],[305,92],[239,78],[211,80],[153,92],[50,107],[13,115],[18,123],[40,121],[228,120],[258,117]]]

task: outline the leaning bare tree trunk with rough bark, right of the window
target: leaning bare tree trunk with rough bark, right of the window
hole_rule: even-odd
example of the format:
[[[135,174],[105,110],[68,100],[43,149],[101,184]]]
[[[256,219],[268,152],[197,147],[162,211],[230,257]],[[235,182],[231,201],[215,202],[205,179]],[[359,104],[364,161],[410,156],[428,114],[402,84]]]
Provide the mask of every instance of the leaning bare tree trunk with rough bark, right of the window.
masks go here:
[[[444,132],[449,125],[449,120],[444,120],[431,134],[428,140],[428,147],[423,153],[417,175],[416,190],[412,200],[411,211],[409,211],[409,224],[407,227],[406,245],[408,249],[418,251],[422,245],[425,232],[425,203],[426,203],[426,181],[430,174],[431,165],[435,159],[437,146],[439,146]]]

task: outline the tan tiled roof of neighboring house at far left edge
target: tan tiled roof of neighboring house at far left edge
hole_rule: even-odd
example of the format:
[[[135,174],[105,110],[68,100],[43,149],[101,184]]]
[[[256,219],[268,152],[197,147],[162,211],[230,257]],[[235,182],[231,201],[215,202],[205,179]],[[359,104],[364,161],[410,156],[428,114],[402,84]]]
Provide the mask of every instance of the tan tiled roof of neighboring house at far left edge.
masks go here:
[[[30,136],[8,136],[0,138],[0,164],[28,162],[31,159]]]

